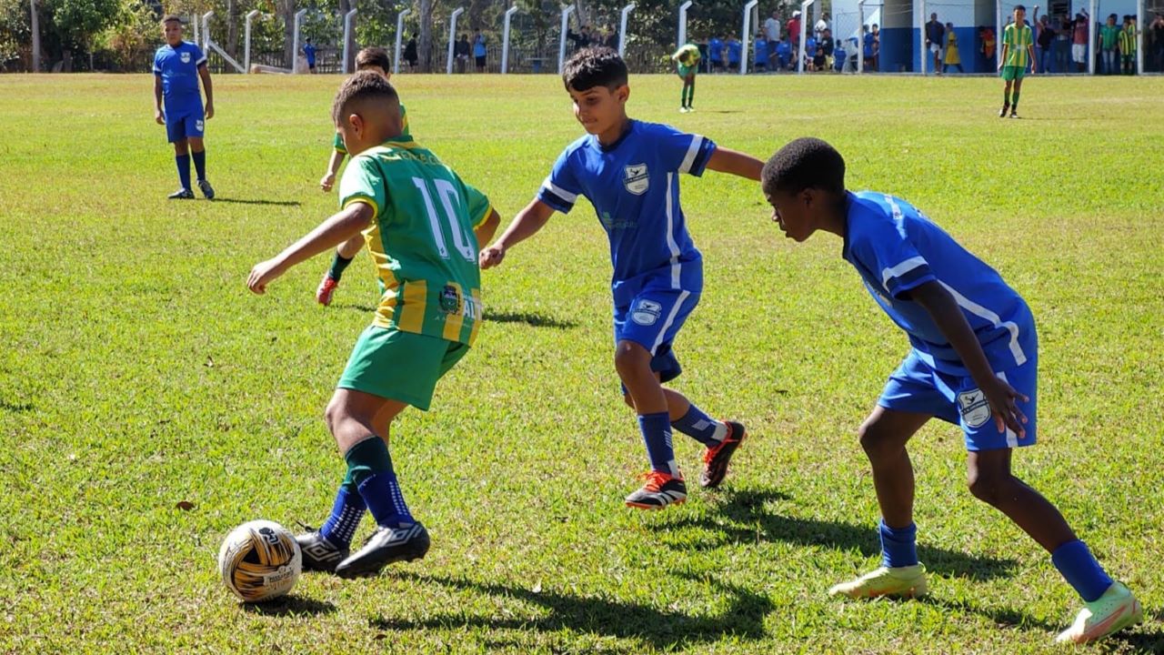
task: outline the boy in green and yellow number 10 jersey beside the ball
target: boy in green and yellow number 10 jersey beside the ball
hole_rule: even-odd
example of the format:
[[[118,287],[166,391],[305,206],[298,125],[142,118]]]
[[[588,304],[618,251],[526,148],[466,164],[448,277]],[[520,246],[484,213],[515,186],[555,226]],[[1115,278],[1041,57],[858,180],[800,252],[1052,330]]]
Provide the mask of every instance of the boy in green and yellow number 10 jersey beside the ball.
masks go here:
[[[262,294],[291,267],[361,232],[376,263],[379,307],[325,415],[347,477],[324,526],[297,537],[305,569],[354,577],[428,551],[428,533],[392,470],[389,427],[410,404],[427,410],[436,381],[473,345],[482,319],[477,253],[499,219],[488,198],[404,135],[399,98],[383,76],[352,76],[332,117],[353,155],[340,182],[342,209],[257,263],[247,287]],[[378,528],[349,556],[365,509]]]

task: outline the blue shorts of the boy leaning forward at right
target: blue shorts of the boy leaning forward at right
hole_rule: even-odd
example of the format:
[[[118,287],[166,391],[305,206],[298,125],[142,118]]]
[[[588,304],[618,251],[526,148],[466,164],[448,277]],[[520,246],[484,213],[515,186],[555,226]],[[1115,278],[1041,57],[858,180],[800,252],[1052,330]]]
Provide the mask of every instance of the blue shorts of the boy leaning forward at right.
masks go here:
[[[961,427],[966,450],[1001,450],[1035,444],[1035,409],[1038,390],[1038,357],[1030,353],[1022,366],[996,371],[1008,385],[1028,396],[1017,401],[1018,410],[1027,416],[1027,436],[1018,438],[1009,428],[999,432],[994,425],[991,406],[978,385],[970,376],[949,375],[935,371],[911,351],[901,366],[889,375],[878,404],[886,409],[929,414]]]

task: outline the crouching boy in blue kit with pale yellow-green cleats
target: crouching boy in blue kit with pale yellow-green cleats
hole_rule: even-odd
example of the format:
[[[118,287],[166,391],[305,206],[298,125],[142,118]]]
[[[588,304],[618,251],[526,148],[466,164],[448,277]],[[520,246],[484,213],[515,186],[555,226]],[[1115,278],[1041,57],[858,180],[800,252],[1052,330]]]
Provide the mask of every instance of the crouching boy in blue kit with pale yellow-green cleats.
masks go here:
[[[1038,339],[1022,296],[904,200],[846,191],[844,160],[819,139],[781,148],[764,167],[762,188],[786,237],[804,241],[823,230],[844,240],[842,256],[913,346],[860,428],[881,508],[882,566],[829,593],[927,592],[906,443],[937,417],[965,432],[971,493],[1045,548],[1086,604],[1058,641],[1093,641],[1142,621],[1131,592],[1103,572],[1050,501],[1010,472],[1013,450],[1035,443]]]

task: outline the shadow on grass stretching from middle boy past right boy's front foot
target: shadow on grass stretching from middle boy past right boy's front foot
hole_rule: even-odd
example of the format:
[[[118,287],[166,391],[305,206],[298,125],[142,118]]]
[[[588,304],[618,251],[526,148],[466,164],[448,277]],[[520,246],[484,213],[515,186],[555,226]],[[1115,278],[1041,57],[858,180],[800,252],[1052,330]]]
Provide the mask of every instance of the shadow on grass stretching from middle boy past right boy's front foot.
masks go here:
[[[821,521],[781,516],[765,510],[765,505],[789,500],[787,494],[775,491],[728,491],[722,496],[716,512],[707,517],[684,517],[659,526],[660,530],[683,531],[700,528],[715,536],[694,548],[710,550],[730,543],[755,543],[757,541],[783,541],[800,545],[821,545],[838,550],[857,550],[868,557],[881,554],[876,529],[870,524]],[[728,519],[730,523],[723,524]],[[676,548],[679,548],[676,545]],[[682,548],[693,548],[690,536],[684,535]],[[925,568],[944,576],[971,579],[989,579],[1007,576],[1015,566],[1014,559],[999,559],[966,555],[954,550],[918,544],[918,558]]]

